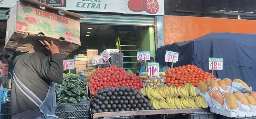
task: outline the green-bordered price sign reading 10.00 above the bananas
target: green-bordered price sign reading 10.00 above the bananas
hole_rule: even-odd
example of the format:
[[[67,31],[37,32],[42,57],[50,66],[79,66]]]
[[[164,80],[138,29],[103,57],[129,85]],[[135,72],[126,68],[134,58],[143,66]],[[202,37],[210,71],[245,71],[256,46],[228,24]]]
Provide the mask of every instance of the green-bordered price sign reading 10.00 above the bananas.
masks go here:
[[[147,75],[159,76],[159,63],[147,62]]]

